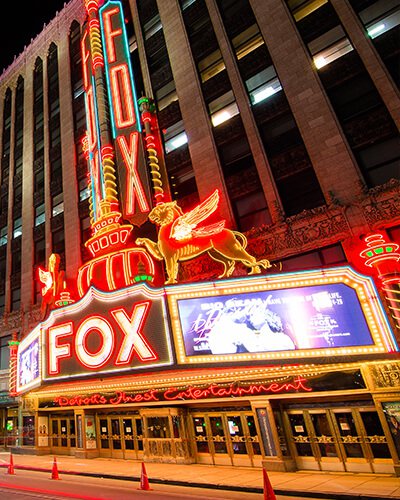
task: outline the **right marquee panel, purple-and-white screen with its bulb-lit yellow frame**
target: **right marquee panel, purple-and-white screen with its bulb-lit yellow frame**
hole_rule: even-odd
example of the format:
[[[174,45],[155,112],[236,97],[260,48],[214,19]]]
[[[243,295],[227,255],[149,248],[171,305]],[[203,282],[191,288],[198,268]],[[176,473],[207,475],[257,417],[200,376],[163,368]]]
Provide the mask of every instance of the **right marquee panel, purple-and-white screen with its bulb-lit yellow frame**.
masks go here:
[[[179,363],[397,349],[370,278],[348,267],[168,290]]]

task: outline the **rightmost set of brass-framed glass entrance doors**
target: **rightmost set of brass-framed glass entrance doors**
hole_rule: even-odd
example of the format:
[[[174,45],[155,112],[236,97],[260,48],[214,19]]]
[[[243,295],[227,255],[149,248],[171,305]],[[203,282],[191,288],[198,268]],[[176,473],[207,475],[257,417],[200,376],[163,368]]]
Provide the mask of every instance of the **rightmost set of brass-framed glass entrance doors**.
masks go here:
[[[390,450],[374,408],[292,410],[285,418],[299,469],[392,472]]]

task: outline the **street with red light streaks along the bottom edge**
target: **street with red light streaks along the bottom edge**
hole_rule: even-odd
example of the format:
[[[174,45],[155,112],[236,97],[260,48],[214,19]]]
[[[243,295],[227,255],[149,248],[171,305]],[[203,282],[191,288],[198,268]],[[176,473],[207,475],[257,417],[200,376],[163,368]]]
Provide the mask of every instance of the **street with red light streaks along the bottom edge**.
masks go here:
[[[139,490],[135,481],[63,475],[60,480],[51,479],[43,472],[17,470],[15,475],[0,473],[0,496],[10,500],[34,498],[59,500],[184,500],[204,498],[208,500],[260,500],[262,494],[244,493],[207,488],[188,488],[150,483],[151,490]],[[299,497],[277,496],[279,500],[295,500]],[[308,497],[309,498],[309,497]],[[312,499],[311,499],[312,500]],[[315,500],[315,499],[314,499]]]

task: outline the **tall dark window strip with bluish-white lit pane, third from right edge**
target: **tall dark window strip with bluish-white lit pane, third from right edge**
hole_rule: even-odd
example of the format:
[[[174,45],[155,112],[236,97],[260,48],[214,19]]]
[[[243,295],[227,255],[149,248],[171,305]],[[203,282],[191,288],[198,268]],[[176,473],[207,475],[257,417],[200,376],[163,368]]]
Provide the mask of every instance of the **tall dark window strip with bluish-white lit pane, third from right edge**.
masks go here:
[[[323,205],[318,179],[248,0],[217,4],[285,214]]]

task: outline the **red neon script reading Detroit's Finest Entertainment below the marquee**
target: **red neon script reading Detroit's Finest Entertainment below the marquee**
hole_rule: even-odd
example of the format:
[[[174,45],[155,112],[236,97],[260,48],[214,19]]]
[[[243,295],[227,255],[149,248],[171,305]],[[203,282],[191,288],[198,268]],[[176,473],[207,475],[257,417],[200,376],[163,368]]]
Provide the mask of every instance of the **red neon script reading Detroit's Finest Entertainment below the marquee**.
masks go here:
[[[307,379],[298,376],[289,382],[267,382],[243,385],[237,382],[229,385],[210,384],[207,387],[190,386],[186,389],[171,387],[162,391],[151,389],[146,392],[128,394],[117,391],[113,394],[91,394],[76,396],[57,396],[54,404],[63,406],[93,406],[113,405],[119,406],[129,403],[147,403],[156,401],[190,401],[212,398],[232,398],[259,396],[264,394],[280,394],[290,392],[311,392],[312,388],[307,385]]]

